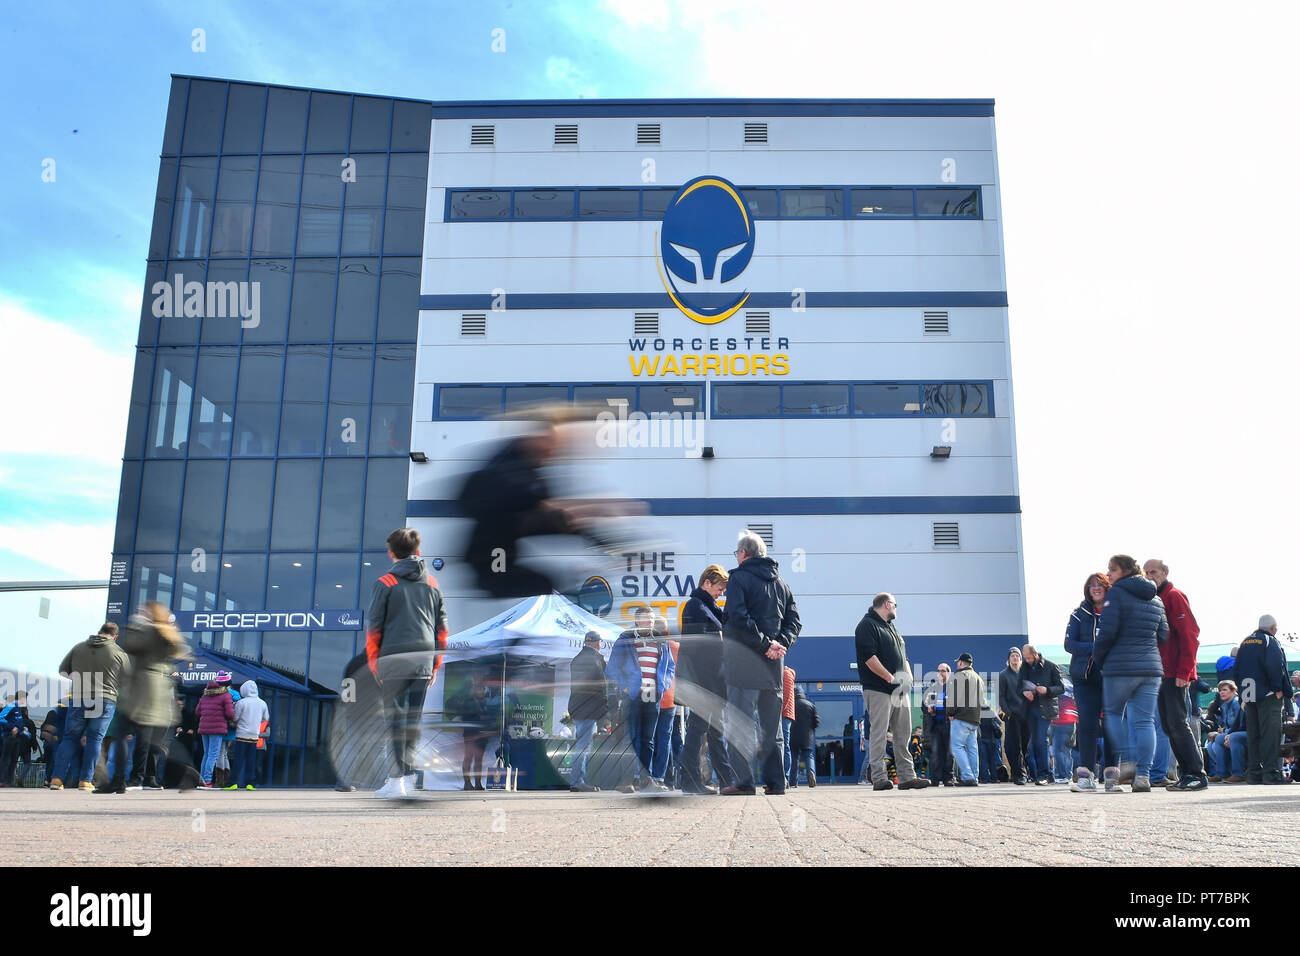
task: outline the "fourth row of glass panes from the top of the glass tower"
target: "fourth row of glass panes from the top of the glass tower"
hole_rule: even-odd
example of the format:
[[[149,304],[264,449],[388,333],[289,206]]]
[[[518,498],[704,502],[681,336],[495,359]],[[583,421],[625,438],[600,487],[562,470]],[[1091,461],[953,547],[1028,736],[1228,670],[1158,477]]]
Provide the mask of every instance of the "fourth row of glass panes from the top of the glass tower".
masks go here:
[[[139,349],[125,458],[406,455],[413,378],[413,345]]]

